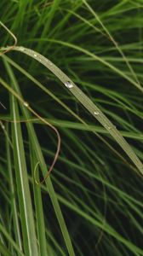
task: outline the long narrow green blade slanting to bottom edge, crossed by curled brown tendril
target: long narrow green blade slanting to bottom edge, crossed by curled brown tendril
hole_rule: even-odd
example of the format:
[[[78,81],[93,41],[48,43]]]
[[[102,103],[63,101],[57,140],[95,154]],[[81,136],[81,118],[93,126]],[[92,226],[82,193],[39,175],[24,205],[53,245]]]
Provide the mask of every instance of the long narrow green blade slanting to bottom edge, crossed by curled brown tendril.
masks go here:
[[[5,66],[7,68],[8,73],[9,73],[9,77],[12,81],[12,84],[14,86],[14,90],[16,90],[18,94],[15,93],[14,90],[10,87],[9,87],[9,90],[12,93],[12,95],[13,94],[14,94],[14,96],[18,95],[18,99],[20,100],[20,102],[22,102],[22,104],[20,104],[20,108],[23,112],[24,117],[26,119],[31,119],[31,115],[28,112],[28,110],[26,109],[26,106],[24,105],[24,101],[22,100],[21,93],[20,93],[20,86],[19,86],[19,84],[17,83],[17,81],[14,77],[14,73],[12,72],[12,69],[9,67],[9,64],[7,63],[7,61],[4,61],[4,63],[5,63]],[[8,89],[8,87],[7,87],[7,89]],[[29,137],[31,137],[32,148],[34,148],[34,150],[35,150],[37,160],[39,161],[39,166],[40,166],[40,168],[43,172],[43,177],[45,177],[45,175],[47,174],[47,166],[46,166],[45,160],[43,158],[42,149],[41,149],[41,147],[38,143],[38,140],[37,140],[37,135],[36,135],[34,127],[31,123],[27,122],[26,126],[27,126],[27,130],[29,132]],[[55,212],[56,217],[57,217],[57,219],[59,221],[59,224],[60,224],[60,230],[61,230],[62,235],[63,235],[63,237],[65,239],[65,242],[66,242],[66,247],[67,247],[68,253],[69,253],[70,256],[74,256],[75,253],[74,253],[74,250],[73,250],[73,247],[72,247],[72,241],[71,241],[71,238],[69,236],[69,232],[66,228],[66,223],[65,223],[65,220],[63,218],[62,212],[60,210],[60,205],[59,205],[59,202],[57,200],[57,195],[54,192],[54,187],[53,187],[53,184],[51,182],[50,177],[49,177],[49,179],[46,180],[46,184],[47,184],[47,187],[48,187],[50,199],[53,203],[54,212]]]

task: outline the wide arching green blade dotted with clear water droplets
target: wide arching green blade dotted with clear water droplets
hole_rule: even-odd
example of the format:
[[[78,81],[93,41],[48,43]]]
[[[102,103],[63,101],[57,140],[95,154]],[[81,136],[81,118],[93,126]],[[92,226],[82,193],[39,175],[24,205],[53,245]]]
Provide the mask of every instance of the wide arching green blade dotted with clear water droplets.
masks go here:
[[[65,73],[63,73],[59,67],[56,67],[54,63],[49,61],[49,59],[45,58],[43,55],[35,52],[31,49],[26,49],[24,47],[15,47],[14,49],[20,50],[21,52],[30,55],[32,58],[36,59],[40,63],[42,63],[45,67],[48,67],[49,70],[54,73],[54,75],[60,79],[60,81],[66,85],[67,82],[71,84],[72,87],[68,88],[72,92],[72,94],[77,98],[79,102],[82,103],[83,107],[86,108],[89,113],[91,113],[95,119],[97,119],[101,125],[103,125],[106,130],[112,135],[112,137],[117,141],[121,148],[123,148],[124,152],[128,154],[130,160],[134,162],[134,165],[138,168],[140,173],[143,175],[143,164],[140,159],[134,154],[133,149],[129,146],[129,143],[125,141],[117,128],[112,124],[112,122],[106,118],[106,115],[100,111],[100,108],[94,105],[94,103],[86,96],[82,90],[80,90],[76,84],[72,82]]]

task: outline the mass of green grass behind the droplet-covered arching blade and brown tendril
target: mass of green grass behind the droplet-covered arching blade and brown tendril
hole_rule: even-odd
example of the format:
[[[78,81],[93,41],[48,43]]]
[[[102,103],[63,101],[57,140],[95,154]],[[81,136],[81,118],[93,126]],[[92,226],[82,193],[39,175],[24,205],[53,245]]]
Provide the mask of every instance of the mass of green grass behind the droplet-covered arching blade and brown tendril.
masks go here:
[[[1,20],[18,45],[60,67],[112,120],[140,160],[142,12],[141,0],[0,2]],[[10,44],[1,26],[0,45]],[[40,120],[8,122],[26,120],[28,113],[1,84],[0,102],[7,109],[0,106],[0,255],[143,255],[142,177],[123,150],[54,74],[29,56],[9,52],[1,58],[0,76],[17,86],[61,137],[51,183],[37,186],[37,154],[48,168],[56,137]]]

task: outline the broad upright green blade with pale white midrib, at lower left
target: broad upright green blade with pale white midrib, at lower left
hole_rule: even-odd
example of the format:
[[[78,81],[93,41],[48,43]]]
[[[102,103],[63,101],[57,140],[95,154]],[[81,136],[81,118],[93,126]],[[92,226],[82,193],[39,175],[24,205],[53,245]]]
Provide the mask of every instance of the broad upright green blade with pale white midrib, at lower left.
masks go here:
[[[35,233],[34,218],[31,206],[31,194],[26,170],[23,138],[20,123],[16,123],[16,120],[19,119],[19,110],[15,97],[12,95],[10,97],[12,116],[14,119],[14,124],[12,125],[14,143],[14,166],[20,204],[20,219],[24,249],[27,256],[38,256],[37,237]]]

